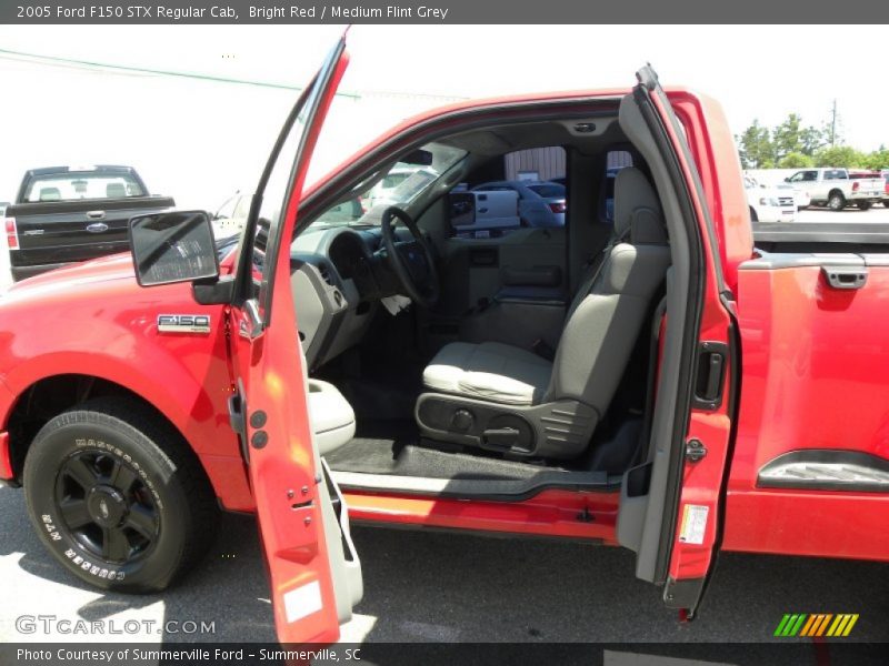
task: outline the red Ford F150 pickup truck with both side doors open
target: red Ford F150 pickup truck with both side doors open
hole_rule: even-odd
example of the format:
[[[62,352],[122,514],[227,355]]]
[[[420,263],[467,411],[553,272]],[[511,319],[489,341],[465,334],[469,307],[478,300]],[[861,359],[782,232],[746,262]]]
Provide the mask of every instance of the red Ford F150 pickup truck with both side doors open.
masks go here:
[[[692,616],[720,551],[889,558],[882,245],[755,246],[722,111],[649,68],[439,109],[306,189],[347,62],[300,97],[239,239],[142,215],[132,255],[0,299],[0,477],[67,569],[161,589],[218,505],[256,512],[278,636],[306,643],[361,597],[349,518],[619,545]],[[563,228],[453,233],[450,190],[549,145]],[[436,175],[326,218],[410,165]]]

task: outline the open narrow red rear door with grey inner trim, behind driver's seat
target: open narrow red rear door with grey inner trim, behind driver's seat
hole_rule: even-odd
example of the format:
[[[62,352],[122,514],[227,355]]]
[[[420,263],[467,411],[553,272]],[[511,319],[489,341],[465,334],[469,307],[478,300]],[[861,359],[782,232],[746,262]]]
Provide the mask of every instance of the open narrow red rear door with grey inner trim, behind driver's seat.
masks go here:
[[[697,245],[697,258],[688,270],[689,293],[678,296],[688,299],[685,326],[673,325],[681,336],[675,349],[681,344],[682,351],[665,357],[659,373],[648,455],[623,476],[618,541],[637,553],[636,575],[662,585],[665,604],[693,617],[721,538],[738,372],[736,329],[689,134],[653,70],[646,67],[637,78],[633,101],[662,158],[686,228],[693,224],[690,244]],[[683,113],[699,110],[693,95],[678,99]],[[668,293],[668,321],[672,316],[673,324],[681,323],[669,300]]]

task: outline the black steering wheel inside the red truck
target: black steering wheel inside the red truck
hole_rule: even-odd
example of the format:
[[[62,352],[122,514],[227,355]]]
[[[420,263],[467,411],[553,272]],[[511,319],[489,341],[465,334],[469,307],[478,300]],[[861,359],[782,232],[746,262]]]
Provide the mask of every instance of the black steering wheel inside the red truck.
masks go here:
[[[410,241],[399,241],[394,232],[394,221],[400,220],[413,236]],[[400,208],[390,206],[382,213],[382,244],[392,272],[414,303],[430,307],[438,302],[439,282],[434,258],[429,242],[411,216]]]

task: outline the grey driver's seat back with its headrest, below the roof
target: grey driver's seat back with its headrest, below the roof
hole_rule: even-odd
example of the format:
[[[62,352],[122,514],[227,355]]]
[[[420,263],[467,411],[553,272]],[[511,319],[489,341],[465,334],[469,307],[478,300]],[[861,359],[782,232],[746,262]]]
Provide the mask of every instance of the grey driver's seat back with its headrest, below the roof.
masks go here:
[[[568,311],[545,400],[577,400],[605,414],[670,266],[663,213],[641,171],[615,181],[615,233]]]

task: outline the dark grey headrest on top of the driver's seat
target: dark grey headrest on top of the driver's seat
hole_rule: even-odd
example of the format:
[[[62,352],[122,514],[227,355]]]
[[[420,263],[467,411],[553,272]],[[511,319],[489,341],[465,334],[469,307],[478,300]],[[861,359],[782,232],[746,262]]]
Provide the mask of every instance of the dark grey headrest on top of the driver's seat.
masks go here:
[[[655,188],[641,171],[628,167],[615,178],[615,233],[630,243],[667,243],[663,211]]]

